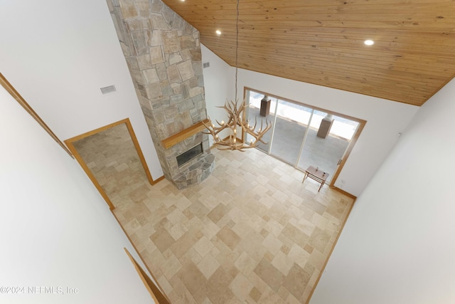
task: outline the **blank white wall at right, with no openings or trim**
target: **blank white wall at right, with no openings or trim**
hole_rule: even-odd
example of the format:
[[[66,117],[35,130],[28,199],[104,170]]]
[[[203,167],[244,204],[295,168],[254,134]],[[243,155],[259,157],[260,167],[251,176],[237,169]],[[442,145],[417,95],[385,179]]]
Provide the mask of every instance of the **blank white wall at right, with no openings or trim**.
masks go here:
[[[455,303],[455,80],[414,117],[354,209],[311,304]]]

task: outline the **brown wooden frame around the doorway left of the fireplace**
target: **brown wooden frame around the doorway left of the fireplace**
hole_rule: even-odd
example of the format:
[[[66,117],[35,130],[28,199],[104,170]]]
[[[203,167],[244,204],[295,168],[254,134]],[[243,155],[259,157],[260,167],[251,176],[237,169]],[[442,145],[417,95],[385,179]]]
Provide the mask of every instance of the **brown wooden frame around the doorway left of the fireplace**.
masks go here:
[[[97,128],[95,130],[92,130],[92,131],[89,131],[89,132],[85,132],[85,133],[83,133],[81,135],[77,135],[75,137],[68,138],[68,140],[64,141],[65,145],[68,147],[68,150],[70,150],[70,152],[74,155],[75,159],[80,164],[80,167],[82,167],[82,169],[84,170],[85,174],[87,174],[87,176],[90,178],[92,183],[97,188],[98,192],[100,192],[100,194],[103,197],[103,199],[105,199],[107,205],[109,206],[109,209],[111,209],[111,210],[115,209],[114,204],[112,204],[112,201],[107,196],[105,190],[102,189],[100,182],[97,181],[97,179],[95,178],[95,175],[93,175],[92,171],[87,166],[87,164],[85,163],[84,159],[82,159],[82,157],[80,156],[79,152],[77,152],[77,150],[76,150],[76,148],[75,148],[73,143],[77,142],[77,140],[82,140],[85,137],[89,137],[90,135],[95,135],[95,134],[97,134],[99,132],[111,129],[112,127],[116,127],[117,125],[122,125],[122,123],[124,123],[127,126],[129,136],[131,137],[132,142],[134,144],[134,147],[136,148],[137,155],[139,156],[139,160],[141,161],[142,167],[144,167],[144,171],[145,171],[147,179],[149,180],[149,183],[151,185],[156,184],[162,178],[156,179],[156,181],[154,181],[154,179],[151,177],[149,167],[147,166],[147,163],[145,161],[144,154],[142,154],[141,146],[139,146],[139,142],[137,141],[137,137],[134,134],[134,130],[133,130],[133,127],[131,125],[131,122],[129,121],[129,118],[125,118],[124,120],[119,120],[118,122],[113,122],[112,124],[105,125],[104,127],[99,127],[99,128]]]

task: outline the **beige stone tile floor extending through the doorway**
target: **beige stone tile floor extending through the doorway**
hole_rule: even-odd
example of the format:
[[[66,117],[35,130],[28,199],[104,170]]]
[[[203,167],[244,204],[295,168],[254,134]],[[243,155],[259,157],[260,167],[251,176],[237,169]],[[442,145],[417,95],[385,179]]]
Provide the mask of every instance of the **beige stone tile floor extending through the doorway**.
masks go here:
[[[306,303],[353,204],[254,149],[213,149],[178,190],[148,184],[124,125],[76,148],[171,303]]]

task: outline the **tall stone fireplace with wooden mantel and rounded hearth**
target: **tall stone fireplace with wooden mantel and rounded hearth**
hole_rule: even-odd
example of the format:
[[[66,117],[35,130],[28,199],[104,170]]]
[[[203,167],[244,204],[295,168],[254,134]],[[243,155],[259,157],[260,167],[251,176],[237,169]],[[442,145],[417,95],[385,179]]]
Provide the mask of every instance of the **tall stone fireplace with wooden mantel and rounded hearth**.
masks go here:
[[[215,157],[200,132],[207,113],[199,32],[161,0],[107,5],[164,176],[179,189],[202,182]],[[177,156],[196,145],[202,153],[179,166]]]

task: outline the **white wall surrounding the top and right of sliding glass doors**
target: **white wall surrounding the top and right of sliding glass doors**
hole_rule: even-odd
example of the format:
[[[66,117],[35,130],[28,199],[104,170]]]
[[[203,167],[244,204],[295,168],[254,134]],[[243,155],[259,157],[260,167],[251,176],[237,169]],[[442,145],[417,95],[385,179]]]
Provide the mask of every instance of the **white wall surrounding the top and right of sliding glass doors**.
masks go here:
[[[398,133],[403,132],[419,109],[413,105],[240,69],[238,90],[244,87],[367,120],[335,184],[355,196],[363,191],[397,142]],[[341,180],[345,183],[342,184]]]

